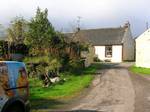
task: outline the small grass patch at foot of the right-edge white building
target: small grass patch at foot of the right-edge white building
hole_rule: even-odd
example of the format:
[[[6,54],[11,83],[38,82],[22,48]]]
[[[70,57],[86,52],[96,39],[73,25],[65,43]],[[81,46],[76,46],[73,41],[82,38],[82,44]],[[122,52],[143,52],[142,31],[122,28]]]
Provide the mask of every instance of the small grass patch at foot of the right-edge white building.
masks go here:
[[[132,66],[130,67],[130,70],[136,74],[150,75],[150,68]]]

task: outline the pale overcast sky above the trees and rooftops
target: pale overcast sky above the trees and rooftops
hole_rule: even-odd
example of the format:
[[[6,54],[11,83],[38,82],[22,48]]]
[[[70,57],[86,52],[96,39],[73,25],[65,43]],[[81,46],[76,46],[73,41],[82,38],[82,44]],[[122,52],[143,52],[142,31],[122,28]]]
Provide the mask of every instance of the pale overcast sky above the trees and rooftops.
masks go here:
[[[70,31],[81,16],[81,28],[118,27],[129,21],[134,36],[150,24],[150,0],[0,0],[0,24],[7,26],[15,16],[30,20],[37,7],[48,8],[49,20],[57,30]]]

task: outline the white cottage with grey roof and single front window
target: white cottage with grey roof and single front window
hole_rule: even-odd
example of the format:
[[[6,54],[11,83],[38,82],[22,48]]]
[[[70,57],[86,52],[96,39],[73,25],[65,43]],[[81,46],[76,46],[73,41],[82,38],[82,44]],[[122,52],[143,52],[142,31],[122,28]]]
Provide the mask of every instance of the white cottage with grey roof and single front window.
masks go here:
[[[95,55],[102,61],[134,60],[135,42],[129,23],[117,28],[80,30],[74,35],[76,40],[90,43]]]

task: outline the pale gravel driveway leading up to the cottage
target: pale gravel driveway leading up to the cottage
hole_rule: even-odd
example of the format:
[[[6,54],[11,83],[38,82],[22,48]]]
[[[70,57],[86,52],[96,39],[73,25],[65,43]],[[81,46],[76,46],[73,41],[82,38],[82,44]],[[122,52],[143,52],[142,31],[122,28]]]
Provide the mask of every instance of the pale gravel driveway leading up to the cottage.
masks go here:
[[[97,74],[92,89],[71,110],[74,112],[133,112],[135,91],[126,67],[105,65]]]

